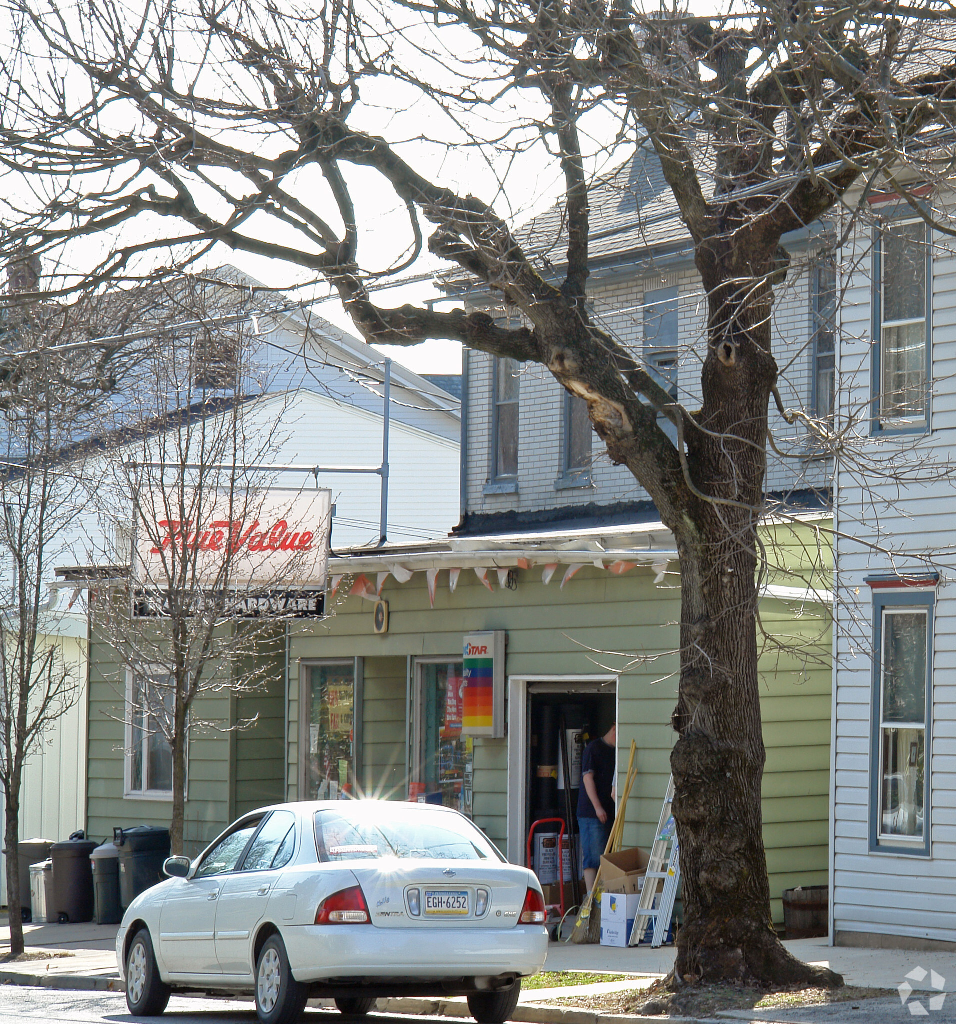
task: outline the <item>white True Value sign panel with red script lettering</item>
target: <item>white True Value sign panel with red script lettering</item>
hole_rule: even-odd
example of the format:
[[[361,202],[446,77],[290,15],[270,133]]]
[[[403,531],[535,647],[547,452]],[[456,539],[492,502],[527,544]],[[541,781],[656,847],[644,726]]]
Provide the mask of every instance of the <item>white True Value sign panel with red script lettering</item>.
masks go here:
[[[328,489],[272,487],[231,498],[150,489],[139,502],[136,582],[166,590],[170,568],[186,558],[201,587],[324,587],[331,509]]]

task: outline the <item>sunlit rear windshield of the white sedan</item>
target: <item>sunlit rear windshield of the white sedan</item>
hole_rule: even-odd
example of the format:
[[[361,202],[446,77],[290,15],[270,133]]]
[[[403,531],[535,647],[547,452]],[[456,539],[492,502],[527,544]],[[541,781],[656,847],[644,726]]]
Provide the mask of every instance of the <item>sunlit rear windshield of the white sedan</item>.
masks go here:
[[[322,861],[503,860],[467,818],[446,811],[370,808],[361,801],[315,812],[315,842]]]

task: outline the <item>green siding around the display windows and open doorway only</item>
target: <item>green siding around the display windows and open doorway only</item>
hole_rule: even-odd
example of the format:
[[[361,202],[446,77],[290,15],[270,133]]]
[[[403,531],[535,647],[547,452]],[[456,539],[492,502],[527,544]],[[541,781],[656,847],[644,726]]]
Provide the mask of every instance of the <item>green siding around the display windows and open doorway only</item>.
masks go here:
[[[784,547],[775,579],[800,586],[828,571],[813,538],[781,532]],[[825,553],[824,553],[825,554]],[[405,665],[411,656],[460,656],[462,637],[479,630],[508,632],[508,676],[619,676],[618,736],[621,769],[631,740],[638,744],[639,776],[626,810],[624,841],[647,847],[653,840],[670,772],[670,729],[679,659],[680,577],[670,572],[655,586],[655,572],[639,567],[617,577],[586,567],[565,589],[561,572],[545,587],[541,568],[519,572],[517,591],[489,593],[471,570],[454,594],[439,577],[435,607],[425,574],[399,585],[390,579],[389,633],[373,632],[372,604],[340,592],[321,623],[293,628],[293,658],[364,658],[364,784],[403,799],[405,762]],[[347,592],[348,581],[343,591]],[[765,598],[762,709],[767,745],[764,777],[765,843],[775,921],[782,921],[784,889],[827,880],[830,744],[830,633],[818,605]],[[297,692],[297,690],[294,690]],[[390,694],[390,696],[389,696]],[[297,707],[292,706],[295,719]],[[297,727],[291,726],[291,734]],[[289,777],[297,775],[298,752],[290,744]],[[370,774],[371,773],[371,774]],[[503,848],[508,842],[507,740],[475,741],[475,821]]]

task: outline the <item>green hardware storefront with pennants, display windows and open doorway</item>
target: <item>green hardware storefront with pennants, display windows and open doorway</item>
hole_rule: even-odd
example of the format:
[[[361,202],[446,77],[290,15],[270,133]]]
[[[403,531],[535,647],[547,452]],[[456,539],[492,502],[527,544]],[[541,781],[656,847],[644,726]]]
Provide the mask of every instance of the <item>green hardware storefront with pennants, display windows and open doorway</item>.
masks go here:
[[[289,638],[288,798],[442,803],[523,860],[530,822],[563,808],[558,738],[573,788],[575,746],[616,720],[619,752],[638,744],[624,842],[649,846],[675,739],[680,574],[669,540],[658,523],[334,559],[329,616],[294,624]],[[767,655],[762,690],[765,841],[780,920],[784,889],[827,881],[829,814],[826,612],[794,607],[787,582],[762,603],[765,628],[802,648]],[[498,645],[494,706],[477,726],[463,687],[476,634]]]

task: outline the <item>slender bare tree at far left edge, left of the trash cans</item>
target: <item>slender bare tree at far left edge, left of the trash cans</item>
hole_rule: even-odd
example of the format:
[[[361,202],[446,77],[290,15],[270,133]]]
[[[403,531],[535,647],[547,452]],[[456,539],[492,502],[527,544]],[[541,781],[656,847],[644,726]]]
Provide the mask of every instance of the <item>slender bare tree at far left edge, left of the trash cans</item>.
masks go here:
[[[77,700],[79,666],[57,640],[53,567],[82,544],[84,464],[63,463],[72,442],[98,425],[122,361],[85,344],[101,324],[92,300],[70,307],[36,293],[39,261],[19,253],[0,299],[0,786],[10,948],[24,951],[19,815],[24,766],[48,727]],[[116,354],[116,353],[113,353]]]

